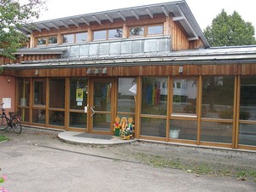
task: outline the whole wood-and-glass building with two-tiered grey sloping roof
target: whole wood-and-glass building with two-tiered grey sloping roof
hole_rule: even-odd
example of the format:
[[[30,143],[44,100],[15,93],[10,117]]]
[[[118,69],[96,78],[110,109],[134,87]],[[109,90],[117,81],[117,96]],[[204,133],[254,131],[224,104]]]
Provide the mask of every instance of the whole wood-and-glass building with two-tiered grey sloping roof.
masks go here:
[[[139,139],[256,149],[256,46],[210,48],[185,1],[33,27],[1,77],[23,124],[113,134],[131,116]]]

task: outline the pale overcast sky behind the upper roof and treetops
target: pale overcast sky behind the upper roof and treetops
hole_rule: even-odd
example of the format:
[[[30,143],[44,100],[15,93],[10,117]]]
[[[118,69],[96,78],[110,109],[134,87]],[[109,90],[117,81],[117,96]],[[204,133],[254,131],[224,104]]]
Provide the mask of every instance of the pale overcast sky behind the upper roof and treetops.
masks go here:
[[[172,2],[170,0],[169,2]],[[99,11],[123,9],[140,5],[166,3],[168,0],[47,0],[48,11],[43,11],[39,20],[90,14]],[[212,24],[212,19],[224,9],[228,15],[235,10],[241,18],[252,22],[256,30],[255,0],[186,0],[201,30]]]

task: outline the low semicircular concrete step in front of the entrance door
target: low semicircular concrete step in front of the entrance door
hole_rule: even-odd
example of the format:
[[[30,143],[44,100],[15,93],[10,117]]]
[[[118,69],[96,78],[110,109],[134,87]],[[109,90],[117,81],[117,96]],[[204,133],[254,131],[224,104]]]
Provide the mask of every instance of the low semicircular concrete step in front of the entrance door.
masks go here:
[[[90,133],[81,133],[75,131],[63,131],[58,137],[67,143],[96,144],[96,145],[115,145],[136,142],[136,139],[123,140],[119,137],[109,135],[97,135]]]

